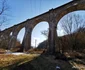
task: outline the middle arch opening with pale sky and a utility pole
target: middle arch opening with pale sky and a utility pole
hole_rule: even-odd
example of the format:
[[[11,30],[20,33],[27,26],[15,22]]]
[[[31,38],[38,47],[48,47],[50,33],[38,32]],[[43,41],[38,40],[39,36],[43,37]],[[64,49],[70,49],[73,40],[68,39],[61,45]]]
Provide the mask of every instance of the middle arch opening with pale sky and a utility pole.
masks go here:
[[[44,42],[47,41],[48,36],[46,33],[48,32],[48,22],[40,22],[38,23],[33,31],[32,31],[32,37],[31,37],[31,46],[33,48],[42,48],[45,46]]]

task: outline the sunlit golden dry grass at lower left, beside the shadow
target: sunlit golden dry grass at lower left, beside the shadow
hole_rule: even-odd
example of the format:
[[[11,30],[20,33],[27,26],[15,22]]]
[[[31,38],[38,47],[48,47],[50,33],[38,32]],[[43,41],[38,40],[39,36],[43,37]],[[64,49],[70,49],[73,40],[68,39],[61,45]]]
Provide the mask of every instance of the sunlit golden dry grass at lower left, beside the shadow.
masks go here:
[[[28,54],[28,55],[7,55],[7,54],[0,54],[0,68],[4,68],[10,65],[20,65],[25,63],[26,61],[33,60],[37,55],[35,54]]]

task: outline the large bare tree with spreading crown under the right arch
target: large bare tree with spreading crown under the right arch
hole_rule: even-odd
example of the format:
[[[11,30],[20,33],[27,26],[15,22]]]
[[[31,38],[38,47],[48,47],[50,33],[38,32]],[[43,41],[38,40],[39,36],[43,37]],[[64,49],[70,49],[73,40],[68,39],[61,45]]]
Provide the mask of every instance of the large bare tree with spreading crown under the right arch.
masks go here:
[[[69,45],[73,51],[77,44],[78,29],[85,28],[85,21],[79,14],[70,13],[60,21],[60,25],[61,29],[65,31],[65,34],[70,35]]]

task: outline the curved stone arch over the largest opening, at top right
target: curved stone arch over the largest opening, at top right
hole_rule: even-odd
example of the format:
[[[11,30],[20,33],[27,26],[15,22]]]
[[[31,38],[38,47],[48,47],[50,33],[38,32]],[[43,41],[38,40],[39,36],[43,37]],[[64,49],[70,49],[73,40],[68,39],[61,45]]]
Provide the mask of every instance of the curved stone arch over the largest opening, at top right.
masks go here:
[[[65,4],[61,7],[59,7],[58,10],[54,9],[55,13],[57,16],[55,17],[55,19],[57,20],[56,26],[58,24],[58,22],[61,20],[61,18],[63,16],[65,16],[68,13],[74,12],[74,11],[79,11],[79,10],[85,10],[85,1],[72,1],[68,4]]]

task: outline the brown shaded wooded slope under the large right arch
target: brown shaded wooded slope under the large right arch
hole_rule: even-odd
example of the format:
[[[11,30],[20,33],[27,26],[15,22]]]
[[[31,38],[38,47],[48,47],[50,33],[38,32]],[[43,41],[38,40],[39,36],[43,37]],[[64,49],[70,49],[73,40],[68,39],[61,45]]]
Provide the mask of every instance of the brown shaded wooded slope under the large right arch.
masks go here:
[[[77,32],[63,37],[59,37],[56,49],[65,51],[84,51],[85,49],[85,28],[78,29]]]

